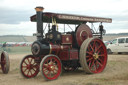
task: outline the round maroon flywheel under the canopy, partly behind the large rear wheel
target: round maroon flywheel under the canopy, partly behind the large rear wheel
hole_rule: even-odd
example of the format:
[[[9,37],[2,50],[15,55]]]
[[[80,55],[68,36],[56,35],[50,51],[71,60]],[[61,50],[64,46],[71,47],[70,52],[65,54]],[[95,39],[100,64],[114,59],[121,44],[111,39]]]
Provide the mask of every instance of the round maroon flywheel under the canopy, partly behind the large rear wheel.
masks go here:
[[[92,32],[88,25],[82,24],[76,29],[76,41],[79,47],[81,46],[81,44],[85,39],[91,37],[92,37]]]

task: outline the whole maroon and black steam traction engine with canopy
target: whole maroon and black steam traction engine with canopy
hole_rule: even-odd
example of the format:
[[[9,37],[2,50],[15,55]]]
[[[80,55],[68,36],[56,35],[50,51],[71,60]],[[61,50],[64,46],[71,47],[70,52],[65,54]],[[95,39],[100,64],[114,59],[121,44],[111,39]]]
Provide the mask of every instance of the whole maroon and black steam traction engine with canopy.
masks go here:
[[[104,70],[107,52],[102,42],[102,23],[111,23],[112,19],[42,12],[43,7],[35,9],[37,14],[31,16],[31,21],[37,22],[37,33],[34,34],[37,40],[31,47],[33,55],[27,55],[21,61],[20,70],[24,77],[35,77],[40,71],[46,80],[54,80],[60,76],[62,69],[71,71],[82,67],[91,74]],[[44,22],[48,23],[45,36]],[[101,22],[99,33],[91,30],[87,22]],[[75,31],[60,33],[57,23],[78,26]]]

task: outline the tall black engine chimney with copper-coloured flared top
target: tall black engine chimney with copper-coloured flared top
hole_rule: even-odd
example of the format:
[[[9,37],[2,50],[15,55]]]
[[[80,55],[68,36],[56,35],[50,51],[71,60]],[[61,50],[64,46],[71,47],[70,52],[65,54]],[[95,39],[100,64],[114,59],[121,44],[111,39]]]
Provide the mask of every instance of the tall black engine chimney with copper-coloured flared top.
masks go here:
[[[37,21],[37,40],[43,38],[43,7],[36,7],[36,21]]]

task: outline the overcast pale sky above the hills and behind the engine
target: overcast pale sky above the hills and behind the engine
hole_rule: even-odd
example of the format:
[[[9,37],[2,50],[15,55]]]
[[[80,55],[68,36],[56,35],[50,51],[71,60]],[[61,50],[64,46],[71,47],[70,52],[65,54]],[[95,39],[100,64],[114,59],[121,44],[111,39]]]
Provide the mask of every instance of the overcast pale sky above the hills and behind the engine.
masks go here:
[[[0,35],[36,33],[36,23],[30,21],[36,6],[43,6],[44,12],[112,18],[112,23],[103,23],[106,33],[126,33],[127,3],[128,0],[0,0]]]

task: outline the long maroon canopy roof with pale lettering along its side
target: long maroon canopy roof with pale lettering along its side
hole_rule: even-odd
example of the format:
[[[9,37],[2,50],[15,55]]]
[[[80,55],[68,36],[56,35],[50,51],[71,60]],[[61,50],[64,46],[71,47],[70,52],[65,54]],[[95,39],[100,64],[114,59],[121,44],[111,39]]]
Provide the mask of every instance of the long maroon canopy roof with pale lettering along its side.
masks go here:
[[[105,22],[111,23],[111,18],[103,17],[93,17],[93,16],[83,16],[83,15],[72,15],[72,14],[61,14],[61,13],[51,13],[43,12],[43,22],[51,23],[52,17],[56,19],[57,23],[63,24],[80,24],[84,22]],[[36,15],[30,17],[32,22],[36,22]]]

